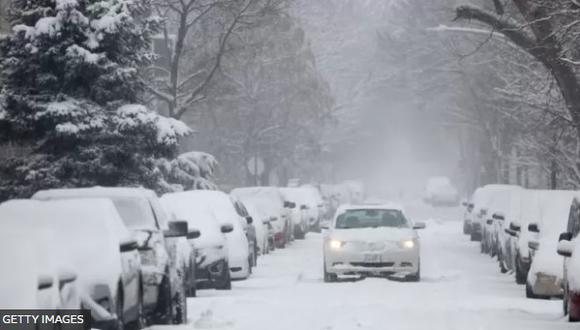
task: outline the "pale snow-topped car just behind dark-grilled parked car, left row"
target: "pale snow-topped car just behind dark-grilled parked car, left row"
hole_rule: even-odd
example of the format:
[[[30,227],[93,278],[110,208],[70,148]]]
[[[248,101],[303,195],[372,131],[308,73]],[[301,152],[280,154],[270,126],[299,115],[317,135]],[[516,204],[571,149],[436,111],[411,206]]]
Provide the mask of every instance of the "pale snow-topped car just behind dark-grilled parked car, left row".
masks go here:
[[[222,191],[194,190],[189,193],[192,199],[211,209],[220,225],[232,227],[226,233],[230,276],[232,279],[248,278],[252,273],[252,260],[250,243],[244,232],[244,223],[247,220],[238,215],[232,199]]]

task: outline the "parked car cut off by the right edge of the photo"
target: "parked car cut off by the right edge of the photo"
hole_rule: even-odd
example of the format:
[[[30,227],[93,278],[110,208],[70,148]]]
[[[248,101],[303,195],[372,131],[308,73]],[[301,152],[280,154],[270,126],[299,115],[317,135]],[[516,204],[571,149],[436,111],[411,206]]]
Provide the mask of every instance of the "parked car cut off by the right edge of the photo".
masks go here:
[[[558,254],[564,258],[562,307],[570,322],[580,322],[580,195],[570,205],[566,231],[558,239]]]

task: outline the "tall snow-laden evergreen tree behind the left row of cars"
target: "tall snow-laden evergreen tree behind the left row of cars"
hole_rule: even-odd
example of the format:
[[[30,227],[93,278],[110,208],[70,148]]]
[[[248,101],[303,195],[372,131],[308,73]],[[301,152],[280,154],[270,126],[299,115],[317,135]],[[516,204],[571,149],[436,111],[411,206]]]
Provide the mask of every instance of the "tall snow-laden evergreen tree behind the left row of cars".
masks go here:
[[[0,142],[30,150],[2,164],[0,197],[37,189],[144,185],[162,190],[180,121],[138,104],[139,70],[159,25],[150,0],[13,0],[0,41]]]

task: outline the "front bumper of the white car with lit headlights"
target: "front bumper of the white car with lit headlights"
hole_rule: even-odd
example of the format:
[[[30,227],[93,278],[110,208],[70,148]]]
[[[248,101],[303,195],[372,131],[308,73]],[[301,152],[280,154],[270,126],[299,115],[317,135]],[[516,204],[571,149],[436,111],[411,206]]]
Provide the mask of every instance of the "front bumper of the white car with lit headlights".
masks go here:
[[[327,251],[326,271],[336,275],[415,274],[419,271],[419,250],[387,250],[380,252]]]

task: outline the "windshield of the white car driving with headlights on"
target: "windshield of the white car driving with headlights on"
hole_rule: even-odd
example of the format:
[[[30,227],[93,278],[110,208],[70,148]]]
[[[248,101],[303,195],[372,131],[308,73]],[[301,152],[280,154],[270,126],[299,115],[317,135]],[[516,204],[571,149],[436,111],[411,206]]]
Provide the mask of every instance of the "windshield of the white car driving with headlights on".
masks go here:
[[[386,209],[347,210],[336,219],[337,229],[377,227],[408,228],[409,223],[401,211]]]

